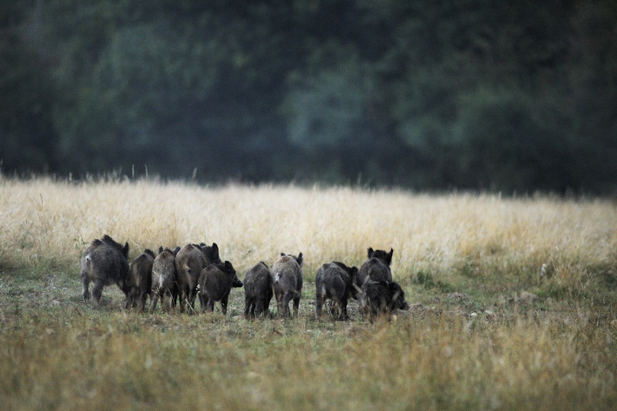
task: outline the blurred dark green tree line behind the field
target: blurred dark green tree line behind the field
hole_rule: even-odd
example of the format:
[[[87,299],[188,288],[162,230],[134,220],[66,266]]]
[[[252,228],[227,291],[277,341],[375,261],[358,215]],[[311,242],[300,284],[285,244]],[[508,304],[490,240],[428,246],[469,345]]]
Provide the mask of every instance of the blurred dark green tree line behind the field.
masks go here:
[[[616,2],[1,0],[0,159],[614,195]]]

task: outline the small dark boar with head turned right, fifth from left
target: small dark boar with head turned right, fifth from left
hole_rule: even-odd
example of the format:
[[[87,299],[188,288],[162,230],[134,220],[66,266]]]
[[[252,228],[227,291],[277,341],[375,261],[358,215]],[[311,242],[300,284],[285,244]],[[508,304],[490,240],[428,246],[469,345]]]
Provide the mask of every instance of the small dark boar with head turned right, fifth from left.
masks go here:
[[[221,301],[221,311],[227,315],[227,301],[232,287],[241,287],[232,263],[210,264],[199,274],[199,299],[202,312],[213,312],[215,301]]]

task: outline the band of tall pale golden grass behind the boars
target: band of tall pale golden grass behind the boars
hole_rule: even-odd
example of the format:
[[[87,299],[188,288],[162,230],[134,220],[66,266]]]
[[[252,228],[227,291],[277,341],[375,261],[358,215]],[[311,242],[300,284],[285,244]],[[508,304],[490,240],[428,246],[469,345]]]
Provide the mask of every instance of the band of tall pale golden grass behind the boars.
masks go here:
[[[494,195],[411,195],[387,190],[280,186],[202,188],[148,181],[86,184],[0,180],[3,258],[14,264],[77,262],[103,234],[144,247],[217,242],[240,268],[305,256],[309,272],[334,259],[365,260],[367,247],[394,247],[394,275],[459,272],[540,277],[577,287],[585,269],[617,260],[612,201]]]

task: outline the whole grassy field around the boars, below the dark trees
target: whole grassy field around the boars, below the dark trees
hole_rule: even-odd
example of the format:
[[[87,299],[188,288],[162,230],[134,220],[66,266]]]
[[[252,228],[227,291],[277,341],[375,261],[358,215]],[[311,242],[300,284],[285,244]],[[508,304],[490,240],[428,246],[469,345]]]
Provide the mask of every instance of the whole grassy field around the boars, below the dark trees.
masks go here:
[[[298,319],[138,313],[79,260],[217,242],[243,279],[304,256]],[[411,305],[315,319],[315,273],[394,249]],[[0,177],[3,410],[615,410],[617,203],[348,187]]]

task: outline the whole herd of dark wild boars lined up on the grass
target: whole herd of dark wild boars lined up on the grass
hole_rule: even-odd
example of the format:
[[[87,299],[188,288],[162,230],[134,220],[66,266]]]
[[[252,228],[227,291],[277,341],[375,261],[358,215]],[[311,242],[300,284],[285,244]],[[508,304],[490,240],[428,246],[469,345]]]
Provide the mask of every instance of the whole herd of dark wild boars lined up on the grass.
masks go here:
[[[220,301],[221,312],[227,314],[230,291],[244,286],[244,316],[247,319],[269,314],[270,300],[276,298],[280,316],[290,316],[289,303],[293,301],[293,316],[298,316],[302,295],[302,253],[298,256],[281,253],[268,268],[259,262],[247,270],[244,282],[229,261],[221,261],[219,247],[187,244],[169,249],[160,247],[158,255],[145,249],[130,264],[129,245],[114,241],[108,235],[95,239],[81,258],[84,301],[92,299],[97,307],[104,286],[117,284],[126,295],[125,309],[145,310],[150,297],[149,312],[154,312],[160,299],[166,312],[176,309],[180,297],[180,312],[195,312],[195,298],[199,296],[202,312],[213,312]],[[361,314],[373,321],[375,316],[389,317],[395,310],[408,310],[404,292],[392,281],[390,263],[394,250],[368,249],[368,260],[360,269],[342,262],[327,262],[315,275],[315,314],[322,318],[326,300],[330,301],[330,316],[347,320],[347,302],[351,297],[359,301]],[[90,293],[90,282],[93,289]]]

